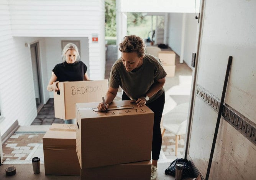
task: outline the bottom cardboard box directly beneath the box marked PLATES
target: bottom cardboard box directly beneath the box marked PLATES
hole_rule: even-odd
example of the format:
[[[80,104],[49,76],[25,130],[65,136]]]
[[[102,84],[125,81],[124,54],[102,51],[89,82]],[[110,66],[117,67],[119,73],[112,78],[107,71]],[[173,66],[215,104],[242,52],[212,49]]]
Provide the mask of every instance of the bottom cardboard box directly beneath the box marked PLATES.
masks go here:
[[[149,180],[150,175],[150,160],[81,169],[80,171],[81,180]]]

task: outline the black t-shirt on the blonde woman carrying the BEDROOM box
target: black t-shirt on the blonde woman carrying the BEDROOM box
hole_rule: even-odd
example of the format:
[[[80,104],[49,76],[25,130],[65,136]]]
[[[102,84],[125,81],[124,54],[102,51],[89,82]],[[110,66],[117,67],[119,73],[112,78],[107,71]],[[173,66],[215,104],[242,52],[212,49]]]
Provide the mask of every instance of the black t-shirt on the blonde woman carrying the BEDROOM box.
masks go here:
[[[87,66],[82,61],[75,61],[73,64],[68,64],[66,61],[57,64],[53,68],[54,74],[57,76],[57,81],[82,81],[84,74],[87,71]]]

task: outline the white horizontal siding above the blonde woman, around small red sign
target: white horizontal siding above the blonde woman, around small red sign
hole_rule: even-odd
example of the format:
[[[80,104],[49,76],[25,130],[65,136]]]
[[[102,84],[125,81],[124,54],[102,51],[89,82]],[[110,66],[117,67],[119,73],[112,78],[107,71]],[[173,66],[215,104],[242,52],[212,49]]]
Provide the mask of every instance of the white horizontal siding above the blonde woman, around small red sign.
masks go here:
[[[8,2],[13,36],[88,37],[89,76],[93,80],[104,78],[104,0],[10,0]],[[92,33],[98,34],[98,43],[92,43]]]

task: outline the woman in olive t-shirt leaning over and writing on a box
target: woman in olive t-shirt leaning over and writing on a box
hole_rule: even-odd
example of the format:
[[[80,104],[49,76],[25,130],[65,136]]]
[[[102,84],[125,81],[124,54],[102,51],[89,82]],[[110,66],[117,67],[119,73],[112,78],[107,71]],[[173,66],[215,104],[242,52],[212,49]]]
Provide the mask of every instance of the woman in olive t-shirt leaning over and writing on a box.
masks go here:
[[[135,100],[138,107],[147,105],[154,112],[151,180],[157,176],[157,162],[162,145],[160,122],[164,109],[166,72],[159,59],[145,54],[145,44],[138,36],[125,36],[120,43],[121,58],[112,66],[109,88],[98,110],[105,111],[116,97],[118,87],[123,89],[122,100]]]

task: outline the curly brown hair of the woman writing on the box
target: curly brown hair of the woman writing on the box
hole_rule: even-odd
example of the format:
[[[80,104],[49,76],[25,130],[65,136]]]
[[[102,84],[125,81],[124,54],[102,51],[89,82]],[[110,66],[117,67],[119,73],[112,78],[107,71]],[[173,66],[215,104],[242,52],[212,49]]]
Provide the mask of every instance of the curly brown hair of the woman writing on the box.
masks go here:
[[[119,44],[121,52],[136,52],[138,57],[145,57],[145,43],[142,38],[136,35],[125,36]]]

